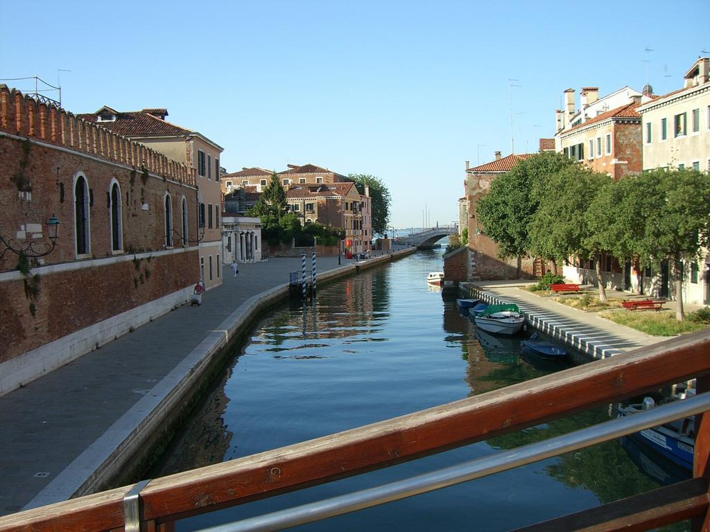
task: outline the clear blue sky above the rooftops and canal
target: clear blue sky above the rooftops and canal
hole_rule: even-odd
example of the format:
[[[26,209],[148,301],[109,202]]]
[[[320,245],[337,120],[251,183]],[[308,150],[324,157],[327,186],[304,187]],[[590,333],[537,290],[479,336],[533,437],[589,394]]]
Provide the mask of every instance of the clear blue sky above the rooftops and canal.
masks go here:
[[[640,90],[648,69],[663,94],[710,51],[707,0],[35,1],[2,12],[0,78],[71,70],[62,104],[75,113],[166,107],[224,147],[230,172],[311,162],[376,175],[398,228],[421,226],[425,207],[432,224],[457,219],[464,161],[510,153],[511,92],[515,152],[535,151],[555,133],[564,89]]]

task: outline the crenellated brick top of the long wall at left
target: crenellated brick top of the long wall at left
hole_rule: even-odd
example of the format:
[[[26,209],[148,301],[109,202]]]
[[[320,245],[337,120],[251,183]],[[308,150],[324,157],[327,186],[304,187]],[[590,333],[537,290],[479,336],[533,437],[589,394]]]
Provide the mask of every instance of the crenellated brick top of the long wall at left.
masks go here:
[[[63,146],[136,170],[143,167],[151,174],[193,187],[196,184],[195,170],[187,165],[5,84],[0,84],[0,131]]]

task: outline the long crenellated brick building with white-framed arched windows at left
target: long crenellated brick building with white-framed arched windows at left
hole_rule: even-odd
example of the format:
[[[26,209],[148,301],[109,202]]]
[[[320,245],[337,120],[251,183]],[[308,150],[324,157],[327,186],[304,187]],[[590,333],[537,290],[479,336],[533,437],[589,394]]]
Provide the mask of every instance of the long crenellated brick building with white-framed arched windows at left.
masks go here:
[[[190,167],[0,85],[0,394],[187,301],[199,278]]]

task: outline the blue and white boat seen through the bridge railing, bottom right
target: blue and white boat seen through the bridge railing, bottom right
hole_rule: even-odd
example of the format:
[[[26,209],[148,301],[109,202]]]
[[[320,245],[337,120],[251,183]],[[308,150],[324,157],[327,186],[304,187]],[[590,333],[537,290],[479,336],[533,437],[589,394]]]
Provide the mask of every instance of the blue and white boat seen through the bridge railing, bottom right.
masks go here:
[[[652,397],[644,397],[640,404],[618,407],[618,416],[630,416],[656,406]],[[695,416],[677,419],[664,425],[647,428],[632,435],[648,448],[687,470],[693,469],[695,450]]]

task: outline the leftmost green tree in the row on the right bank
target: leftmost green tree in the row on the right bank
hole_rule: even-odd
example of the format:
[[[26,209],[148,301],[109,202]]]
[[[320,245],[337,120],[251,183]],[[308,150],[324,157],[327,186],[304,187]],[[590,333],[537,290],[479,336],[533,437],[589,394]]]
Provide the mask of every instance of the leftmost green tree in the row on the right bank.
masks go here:
[[[479,199],[476,216],[486,236],[498,245],[501,258],[523,257],[530,253],[530,223],[545,193],[545,182],[572,164],[560,153],[532,155],[497,177],[488,194]]]

